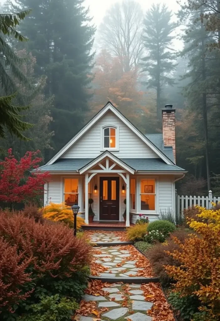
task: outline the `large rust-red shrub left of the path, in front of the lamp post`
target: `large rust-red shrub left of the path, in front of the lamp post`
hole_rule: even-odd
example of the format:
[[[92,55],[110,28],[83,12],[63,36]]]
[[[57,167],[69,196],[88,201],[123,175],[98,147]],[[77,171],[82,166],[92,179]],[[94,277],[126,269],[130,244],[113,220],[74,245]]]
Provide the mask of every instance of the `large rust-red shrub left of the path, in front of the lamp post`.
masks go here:
[[[0,237],[33,257],[33,272],[62,277],[90,263],[91,247],[63,224],[40,224],[22,214],[1,212]]]

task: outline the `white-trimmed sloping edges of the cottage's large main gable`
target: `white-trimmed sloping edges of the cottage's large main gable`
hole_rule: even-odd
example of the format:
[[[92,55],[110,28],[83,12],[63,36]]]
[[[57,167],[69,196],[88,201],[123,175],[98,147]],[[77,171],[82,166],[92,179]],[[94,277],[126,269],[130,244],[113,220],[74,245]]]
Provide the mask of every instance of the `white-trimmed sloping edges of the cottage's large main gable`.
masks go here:
[[[123,121],[147,146],[149,146],[166,164],[173,165],[169,159],[154,143],[142,134],[122,113],[109,101],[46,165],[53,164],[61,157],[75,142],[77,142],[101,117],[111,110],[121,121]]]

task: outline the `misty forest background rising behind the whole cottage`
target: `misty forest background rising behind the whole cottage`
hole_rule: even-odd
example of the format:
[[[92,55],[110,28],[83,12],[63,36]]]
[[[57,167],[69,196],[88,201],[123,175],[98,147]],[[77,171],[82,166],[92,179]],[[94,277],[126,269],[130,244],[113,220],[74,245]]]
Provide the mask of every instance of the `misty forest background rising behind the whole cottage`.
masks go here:
[[[165,4],[143,12],[125,0],[97,30],[84,0],[13,0],[1,13],[27,9],[17,30],[29,41],[3,36],[0,95],[16,92],[13,102],[30,106],[23,120],[34,126],[24,132],[28,141],[4,130],[1,158],[12,147],[17,158],[39,149],[48,161],[108,100],[143,133],[161,133],[161,109],[171,103],[177,164],[189,171],[178,193],[220,195],[217,0],[187,0],[175,23]],[[173,45],[176,28],[181,51]]]

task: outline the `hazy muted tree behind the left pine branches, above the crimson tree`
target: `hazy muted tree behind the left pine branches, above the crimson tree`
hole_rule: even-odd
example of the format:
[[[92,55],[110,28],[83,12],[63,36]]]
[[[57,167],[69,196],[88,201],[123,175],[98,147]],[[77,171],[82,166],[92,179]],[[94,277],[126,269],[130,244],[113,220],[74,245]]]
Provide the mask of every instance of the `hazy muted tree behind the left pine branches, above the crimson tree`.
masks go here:
[[[21,141],[19,138],[6,131],[5,139],[0,141],[1,149],[5,151],[4,157],[7,156],[9,148],[13,149],[13,154],[18,159],[25,155],[27,151],[36,150],[40,150],[44,157],[45,149],[51,149],[50,144],[51,137],[53,135],[53,133],[49,132],[48,129],[49,124],[52,121],[52,117],[50,116],[52,99],[45,99],[43,94],[43,90],[46,85],[46,78],[44,76],[40,78],[33,77],[36,58],[33,57],[31,53],[27,54],[25,49],[17,51],[17,56],[25,58],[25,62],[20,68],[30,84],[35,88],[34,91],[30,91],[27,86],[15,79],[25,104],[31,104],[31,108],[27,110],[23,116],[24,120],[34,126],[25,133],[26,136],[31,139],[27,142]]]

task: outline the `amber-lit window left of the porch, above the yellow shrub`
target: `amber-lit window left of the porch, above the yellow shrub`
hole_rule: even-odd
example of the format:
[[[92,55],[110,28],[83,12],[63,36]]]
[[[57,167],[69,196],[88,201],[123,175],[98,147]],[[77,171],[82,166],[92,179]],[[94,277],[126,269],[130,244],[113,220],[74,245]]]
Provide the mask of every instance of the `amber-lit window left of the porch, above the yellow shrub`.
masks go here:
[[[64,202],[66,205],[78,204],[78,186],[78,178],[64,178]]]

